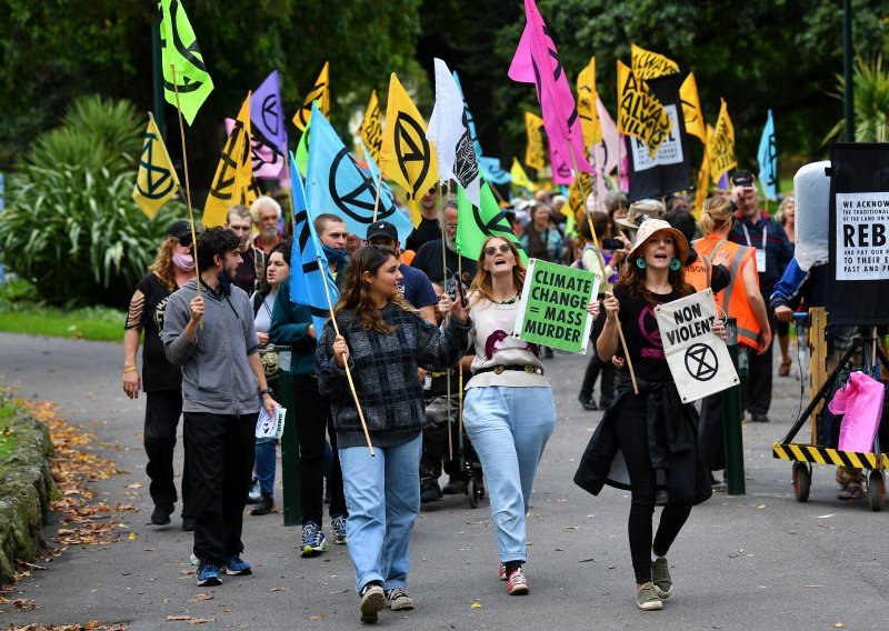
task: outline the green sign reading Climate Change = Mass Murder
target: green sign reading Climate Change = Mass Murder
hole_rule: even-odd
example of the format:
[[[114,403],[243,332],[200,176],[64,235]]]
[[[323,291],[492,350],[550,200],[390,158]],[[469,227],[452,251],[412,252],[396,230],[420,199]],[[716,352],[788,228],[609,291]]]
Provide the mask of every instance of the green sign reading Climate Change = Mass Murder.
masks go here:
[[[587,304],[595,300],[601,280],[590,271],[530,259],[512,334],[526,342],[586,353],[592,327]]]

